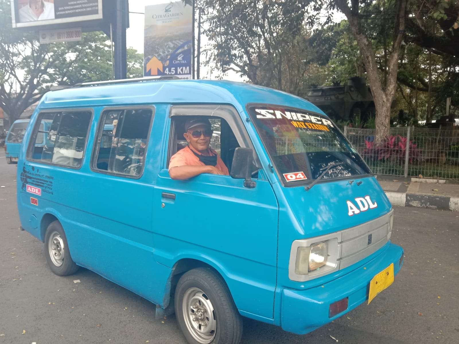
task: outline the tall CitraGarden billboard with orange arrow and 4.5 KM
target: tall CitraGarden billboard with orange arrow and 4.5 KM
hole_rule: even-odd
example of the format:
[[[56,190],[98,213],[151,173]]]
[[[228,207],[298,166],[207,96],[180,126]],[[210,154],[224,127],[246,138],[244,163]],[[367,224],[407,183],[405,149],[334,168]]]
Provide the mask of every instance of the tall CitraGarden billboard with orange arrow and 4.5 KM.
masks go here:
[[[193,9],[182,1],[145,6],[144,76],[191,79]]]

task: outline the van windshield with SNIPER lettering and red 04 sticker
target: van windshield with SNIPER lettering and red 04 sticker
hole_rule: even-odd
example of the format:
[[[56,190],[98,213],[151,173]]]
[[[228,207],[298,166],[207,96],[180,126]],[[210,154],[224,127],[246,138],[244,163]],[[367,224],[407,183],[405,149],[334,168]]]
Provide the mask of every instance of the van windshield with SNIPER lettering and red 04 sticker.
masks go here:
[[[283,182],[305,183],[371,173],[328,117],[279,106],[250,106],[252,121]]]

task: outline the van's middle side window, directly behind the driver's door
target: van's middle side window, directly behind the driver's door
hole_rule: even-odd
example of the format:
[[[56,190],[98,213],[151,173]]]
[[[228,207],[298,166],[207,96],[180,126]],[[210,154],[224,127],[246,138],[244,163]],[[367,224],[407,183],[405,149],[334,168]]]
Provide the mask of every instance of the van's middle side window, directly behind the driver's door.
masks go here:
[[[151,109],[102,112],[93,168],[139,178],[145,165]]]

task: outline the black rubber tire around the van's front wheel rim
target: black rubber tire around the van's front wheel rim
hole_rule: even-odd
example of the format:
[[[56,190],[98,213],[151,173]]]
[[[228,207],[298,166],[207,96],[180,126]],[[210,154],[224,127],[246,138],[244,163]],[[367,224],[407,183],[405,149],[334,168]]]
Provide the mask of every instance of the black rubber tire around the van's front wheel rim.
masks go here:
[[[184,315],[183,310],[185,293],[196,288],[201,289],[204,293],[202,296],[212,303],[217,323],[215,335],[208,343],[238,344],[242,337],[242,317],[222,277],[209,268],[196,268],[186,272],[180,277],[175,289],[175,315],[188,343],[203,343],[197,341],[188,330],[185,322],[187,315]]]

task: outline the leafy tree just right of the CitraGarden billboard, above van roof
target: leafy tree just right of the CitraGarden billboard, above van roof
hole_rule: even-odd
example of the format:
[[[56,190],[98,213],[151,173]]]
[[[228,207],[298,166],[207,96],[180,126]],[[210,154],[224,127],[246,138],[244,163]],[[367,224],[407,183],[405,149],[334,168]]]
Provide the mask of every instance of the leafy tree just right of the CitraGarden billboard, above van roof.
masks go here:
[[[210,59],[252,83],[282,89],[285,52],[301,34],[308,0],[202,0]]]

